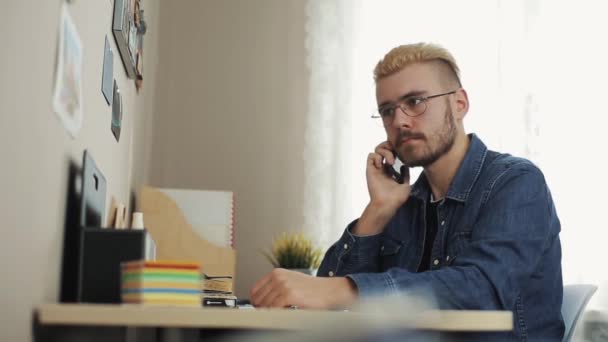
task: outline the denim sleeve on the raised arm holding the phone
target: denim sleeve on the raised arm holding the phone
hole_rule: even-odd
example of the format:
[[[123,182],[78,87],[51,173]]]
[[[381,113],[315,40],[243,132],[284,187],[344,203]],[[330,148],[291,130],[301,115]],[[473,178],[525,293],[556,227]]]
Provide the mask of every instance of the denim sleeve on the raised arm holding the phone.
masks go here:
[[[379,271],[378,258],[382,234],[354,235],[351,231],[357,221],[351,222],[342,237],[327,250],[317,276],[345,276],[352,273]]]

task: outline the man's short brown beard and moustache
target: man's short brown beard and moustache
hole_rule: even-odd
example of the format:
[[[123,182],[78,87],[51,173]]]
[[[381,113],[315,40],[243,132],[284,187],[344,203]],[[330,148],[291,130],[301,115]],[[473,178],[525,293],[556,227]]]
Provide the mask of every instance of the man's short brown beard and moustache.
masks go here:
[[[416,153],[416,146],[405,146],[398,150],[399,159],[407,167],[422,166],[427,167],[436,162],[443,155],[448,153],[454,141],[456,141],[456,122],[452,115],[452,110],[447,108],[444,113],[443,125],[441,128],[433,132],[429,137],[424,134],[415,134],[412,132],[403,131],[399,134],[397,141],[402,141],[403,138],[419,138],[426,140],[427,144],[420,149],[421,153]]]

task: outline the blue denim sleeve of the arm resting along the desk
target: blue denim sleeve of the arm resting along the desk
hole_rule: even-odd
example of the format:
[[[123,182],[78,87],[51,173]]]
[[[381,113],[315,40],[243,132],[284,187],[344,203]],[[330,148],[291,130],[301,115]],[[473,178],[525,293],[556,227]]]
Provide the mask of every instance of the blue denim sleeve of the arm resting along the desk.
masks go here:
[[[514,307],[518,286],[543,260],[559,267],[559,221],[544,177],[531,163],[505,169],[487,185],[470,241],[440,269],[350,274],[360,297],[431,290],[445,309]],[[559,242],[559,241],[558,241]],[[557,246],[557,247],[556,247]]]

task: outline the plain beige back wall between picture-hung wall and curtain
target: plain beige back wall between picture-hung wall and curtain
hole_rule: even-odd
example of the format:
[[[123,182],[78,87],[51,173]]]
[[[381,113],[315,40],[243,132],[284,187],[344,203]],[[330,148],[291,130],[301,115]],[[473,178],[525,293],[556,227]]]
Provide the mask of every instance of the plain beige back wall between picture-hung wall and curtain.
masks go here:
[[[271,269],[259,250],[274,235],[301,229],[304,5],[161,5],[151,181],[235,192],[239,296]]]

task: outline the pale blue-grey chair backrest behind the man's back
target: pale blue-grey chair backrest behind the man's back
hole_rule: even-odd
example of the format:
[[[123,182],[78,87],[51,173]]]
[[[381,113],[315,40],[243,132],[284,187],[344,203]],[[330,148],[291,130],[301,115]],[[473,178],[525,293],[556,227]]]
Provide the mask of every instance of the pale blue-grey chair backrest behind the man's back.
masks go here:
[[[564,318],[566,329],[564,330],[563,342],[570,342],[572,339],[576,323],[596,290],[597,286],[588,284],[564,286],[562,317]]]

